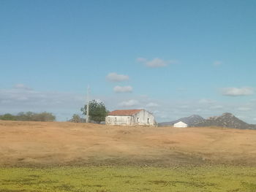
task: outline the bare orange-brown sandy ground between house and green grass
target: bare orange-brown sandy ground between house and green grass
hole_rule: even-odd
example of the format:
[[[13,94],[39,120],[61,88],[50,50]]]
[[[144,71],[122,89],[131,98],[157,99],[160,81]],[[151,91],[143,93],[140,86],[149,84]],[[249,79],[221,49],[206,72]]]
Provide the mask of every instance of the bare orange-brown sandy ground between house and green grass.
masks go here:
[[[0,166],[256,165],[256,131],[0,120]]]

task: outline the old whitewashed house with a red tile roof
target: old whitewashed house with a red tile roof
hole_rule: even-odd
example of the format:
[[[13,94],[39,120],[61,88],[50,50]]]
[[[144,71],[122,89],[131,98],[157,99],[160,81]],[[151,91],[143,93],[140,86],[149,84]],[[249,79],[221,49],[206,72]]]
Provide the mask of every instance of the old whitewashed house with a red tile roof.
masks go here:
[[[105,123],[119,126],[154,126],[155,120],[153,114],[146,110],[115,110],[108,113]]]

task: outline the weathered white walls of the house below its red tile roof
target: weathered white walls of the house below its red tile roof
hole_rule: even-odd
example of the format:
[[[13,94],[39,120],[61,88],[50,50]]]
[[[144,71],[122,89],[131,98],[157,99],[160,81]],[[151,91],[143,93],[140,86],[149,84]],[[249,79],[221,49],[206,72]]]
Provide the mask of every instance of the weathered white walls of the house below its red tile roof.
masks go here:
[[[135,115],[108,115],[105,119],[106,125],[132,126],[149,125],[154,126],[154,116],[146,110],[141,110]]]

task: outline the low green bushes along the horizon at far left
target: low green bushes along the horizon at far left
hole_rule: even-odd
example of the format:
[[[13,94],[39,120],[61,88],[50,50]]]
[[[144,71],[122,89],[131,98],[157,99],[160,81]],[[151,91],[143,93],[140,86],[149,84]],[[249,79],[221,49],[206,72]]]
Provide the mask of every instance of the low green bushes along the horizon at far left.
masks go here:
[[[50,112],[19,112],[18,115],[9,113],[0,115],[0,120],[54,121],[56,117]]]

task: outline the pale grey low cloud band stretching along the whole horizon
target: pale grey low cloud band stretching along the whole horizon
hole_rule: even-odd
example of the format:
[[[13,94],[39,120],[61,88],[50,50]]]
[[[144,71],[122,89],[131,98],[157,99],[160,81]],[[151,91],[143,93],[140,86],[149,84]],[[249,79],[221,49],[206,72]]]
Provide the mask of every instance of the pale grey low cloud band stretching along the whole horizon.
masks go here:
[[[28,87],[24,85],[25,87]],[[153,99],[148,96],[132,96],[130,94],[114,94],[111,96],[94,96],[91,99],[104,101],[108,110],[124,108],[146,108],[154,112],[158,122],[176,120],[192,114],[202,115],[204,118],[232,112],[234,115],[244,115],[242,120],[254,123],[256,100],[238,103],[231,99],[228,103],[211,98],[189,99]],[[100,100],[98,100],[100,99]],[[72,114],[80,114],[80,107],[86,103],[86,96],[80,93],[63,93],[27,90],[23,88],[0,89],[0,114],[10,112],[53,112],[58,120],[71,118]],[[250,109],[249,109],[250,108]]]

